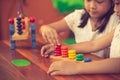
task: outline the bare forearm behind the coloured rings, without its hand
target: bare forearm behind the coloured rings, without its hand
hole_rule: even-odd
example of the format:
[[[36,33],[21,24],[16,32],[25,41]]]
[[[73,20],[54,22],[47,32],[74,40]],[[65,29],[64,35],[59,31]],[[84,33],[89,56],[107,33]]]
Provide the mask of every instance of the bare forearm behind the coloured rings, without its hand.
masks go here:
[[[82,42],[78,44],[72,44],[69,45],[68,48],[75,49],[78,53],[79,52],[89,53],[89,52],[98,51],[100,49],[106,48],[111,45],[113,35],[114,35],[114,30],[108,33],[107,35],[102,36],[99,39]]]

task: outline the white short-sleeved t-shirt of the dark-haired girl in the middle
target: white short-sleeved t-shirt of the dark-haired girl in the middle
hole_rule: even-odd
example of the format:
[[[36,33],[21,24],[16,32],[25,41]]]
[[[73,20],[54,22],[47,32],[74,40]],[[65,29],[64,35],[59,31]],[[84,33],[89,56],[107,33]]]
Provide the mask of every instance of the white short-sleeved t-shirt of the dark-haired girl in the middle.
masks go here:
[[[98,30],[96,30],[94,32],[92,31],[90,19],[88,19],[88,22],[84,28],[79,28],[78,26],[81,23],[80,19],[84,12],[85,11],[83,9],[75,10],[73,13],[70,13],[69,15],[67,15],[64,18],[66,20],[66,23],[68,24],[69,28],[75,35],[76,43],[97,39],[97,38],[111,32],[119,23],[118,16],[113,14],[106,26],[106,29],[102,33],[98,33]],[[95,52],[93,54],[98,55],[100,57],[104,57],[104,53],[105,53],[105,49]]]

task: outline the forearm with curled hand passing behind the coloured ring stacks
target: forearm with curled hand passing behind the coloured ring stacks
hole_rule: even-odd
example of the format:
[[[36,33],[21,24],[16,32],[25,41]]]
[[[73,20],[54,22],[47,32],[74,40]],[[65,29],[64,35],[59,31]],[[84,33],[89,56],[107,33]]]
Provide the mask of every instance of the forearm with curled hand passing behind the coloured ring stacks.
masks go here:
[[[105,47],[108,47],[111,44],[113,38],[114,31],[109,34],[88,42],[82,42],[78,44],[66,45],[69,49],[75,49],[77,53],[90,53],[94,51],[98,51]],[[41,48],[41,55],[44,57],[48,57],[51,52],[54,52],[55,46],[53,44],[46,44]]]

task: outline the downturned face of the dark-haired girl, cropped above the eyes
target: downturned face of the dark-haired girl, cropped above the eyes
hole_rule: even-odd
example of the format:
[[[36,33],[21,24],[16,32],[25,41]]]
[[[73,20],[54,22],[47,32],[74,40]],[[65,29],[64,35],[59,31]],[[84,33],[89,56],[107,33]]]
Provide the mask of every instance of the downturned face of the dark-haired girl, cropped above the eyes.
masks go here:
[[[111,8],[111,0],[84,0],[85,9],[92,18],[101,18]]]

